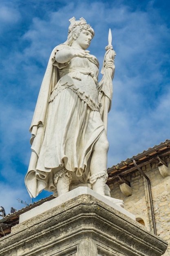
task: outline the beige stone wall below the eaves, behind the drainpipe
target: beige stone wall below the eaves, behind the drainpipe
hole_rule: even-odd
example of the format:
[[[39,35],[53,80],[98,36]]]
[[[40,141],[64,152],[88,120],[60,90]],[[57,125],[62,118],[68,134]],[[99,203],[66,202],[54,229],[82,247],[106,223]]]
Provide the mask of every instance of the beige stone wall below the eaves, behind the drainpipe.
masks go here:
[[[170,158],[163,159],[168,163],[170,169]],[[151,183],[153,208],[157,236],[166,240],[169,244],[164,256],[170,255],[170,176],[162,177],[159,168],[155,163],[147,164],[142,168],[149,177]],[[130,182],[132,195],[126,197],[121,193],[119,184],[116,182],[108,184],[111,189],[111,196],[124,200],[125,209],[134,214],[137,220],[142,219],[145,226],[151,233],[154,233],[152,223],[152,213],[150,209],[150,199],[148,192],[148,182],[139,171],[135,171],[126,176]]]

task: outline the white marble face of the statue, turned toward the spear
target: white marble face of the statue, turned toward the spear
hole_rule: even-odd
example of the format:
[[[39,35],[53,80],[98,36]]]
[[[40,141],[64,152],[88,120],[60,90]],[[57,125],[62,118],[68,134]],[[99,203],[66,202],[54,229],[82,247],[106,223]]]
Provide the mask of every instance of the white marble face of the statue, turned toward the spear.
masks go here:
[[[90,46],[92,38],[91,32],[83,29],[77,37],[76,43],[81,49],[86,50]]]

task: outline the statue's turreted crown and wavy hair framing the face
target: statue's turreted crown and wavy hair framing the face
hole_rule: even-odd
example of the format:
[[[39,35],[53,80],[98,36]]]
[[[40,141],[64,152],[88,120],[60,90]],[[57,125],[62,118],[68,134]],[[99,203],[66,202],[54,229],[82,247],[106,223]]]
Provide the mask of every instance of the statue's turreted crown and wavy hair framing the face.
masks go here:
[[[69,21],[71,24],[68,27],[68,38],[65,44],[71,46],[73,43],[73,34],[77,38],[82,30],[88,30],[91,32],[92,36],[95,35],[93,28],[90,26],[90,24],[87,24],[86,20],[83,17],[79,20],[75,20],[75,17],[73,17]]]

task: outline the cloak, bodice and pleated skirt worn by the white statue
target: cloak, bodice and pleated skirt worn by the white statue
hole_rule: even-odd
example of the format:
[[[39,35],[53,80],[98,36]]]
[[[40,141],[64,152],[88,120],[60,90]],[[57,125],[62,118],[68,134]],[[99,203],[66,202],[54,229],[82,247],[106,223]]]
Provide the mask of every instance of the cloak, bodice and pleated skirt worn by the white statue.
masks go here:
[[[57,65],[53,57],[63,47],[68,46],[51,53],[31,123],[32,153],[25,177],[31,197],[42,189],[55,193],[53,174],[63,166],[87,178],[93,146],[104,130],[95,83],[97,62],[94,57],[76,57],[73,64]]]

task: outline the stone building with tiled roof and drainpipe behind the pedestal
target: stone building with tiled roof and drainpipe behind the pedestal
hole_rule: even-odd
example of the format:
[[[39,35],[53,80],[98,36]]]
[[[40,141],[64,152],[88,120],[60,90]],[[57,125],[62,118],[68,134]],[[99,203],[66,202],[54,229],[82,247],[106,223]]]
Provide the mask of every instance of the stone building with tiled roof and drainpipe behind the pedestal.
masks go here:
[[[148,231],[169,244],[170,255],[170,140],[108,168],[111,196]]]

